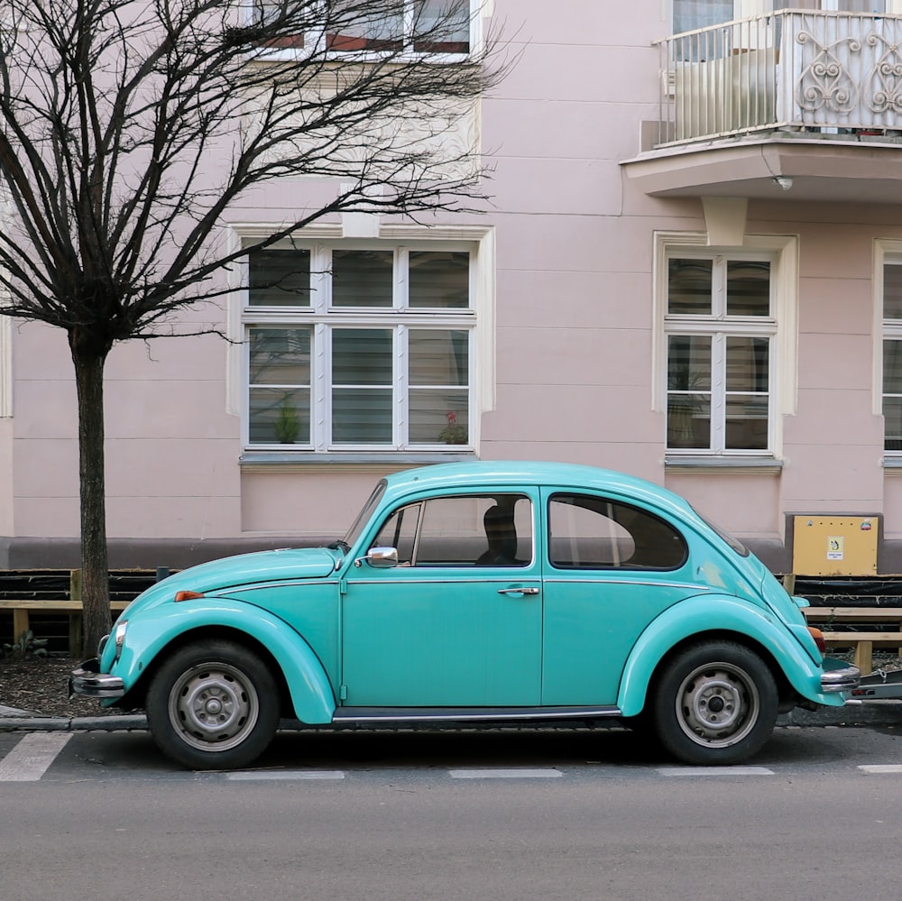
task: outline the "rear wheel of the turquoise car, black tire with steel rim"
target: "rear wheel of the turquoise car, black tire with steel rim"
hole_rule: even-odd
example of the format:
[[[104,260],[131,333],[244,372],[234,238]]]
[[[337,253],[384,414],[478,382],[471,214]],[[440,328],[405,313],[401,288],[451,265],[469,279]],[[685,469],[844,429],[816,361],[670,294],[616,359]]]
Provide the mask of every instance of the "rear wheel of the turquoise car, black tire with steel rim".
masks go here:
[[[732,641],[675,657],[654,697],[661,744],[684,763],[724,766],[756,754],[777,722],[777,685],[764,661]]]

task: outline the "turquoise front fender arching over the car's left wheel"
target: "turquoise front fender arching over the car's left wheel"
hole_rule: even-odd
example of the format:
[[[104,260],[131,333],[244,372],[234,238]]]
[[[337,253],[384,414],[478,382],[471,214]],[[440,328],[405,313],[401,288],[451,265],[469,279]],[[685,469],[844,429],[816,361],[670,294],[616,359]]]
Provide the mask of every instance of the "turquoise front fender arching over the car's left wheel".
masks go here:
[[[335,694],[308,643],[272,613],[232,598],[206,597],[140,611],[128,621],[122,653],[115,663],[114,642],[107,642],[101,670],[119,676],[127,692],[170,642],[189,631],[210,627],[231,628],[259,641],[281,667],[297,718],[309,723],[332,722]]]

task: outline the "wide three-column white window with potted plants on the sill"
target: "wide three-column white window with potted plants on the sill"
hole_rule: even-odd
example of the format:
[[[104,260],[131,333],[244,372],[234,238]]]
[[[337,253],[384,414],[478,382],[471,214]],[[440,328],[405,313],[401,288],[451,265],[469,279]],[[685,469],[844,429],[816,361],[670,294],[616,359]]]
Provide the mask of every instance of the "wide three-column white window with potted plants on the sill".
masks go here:
[[[471,446],[472,257],[461,245],[249,254],[248,444]]]

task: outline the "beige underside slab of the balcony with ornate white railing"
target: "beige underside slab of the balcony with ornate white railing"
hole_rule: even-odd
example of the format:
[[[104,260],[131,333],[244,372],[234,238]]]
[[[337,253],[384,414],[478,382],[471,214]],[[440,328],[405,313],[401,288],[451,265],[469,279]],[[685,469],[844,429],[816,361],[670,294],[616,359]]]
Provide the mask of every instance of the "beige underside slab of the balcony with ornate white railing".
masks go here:
[[[661,148],[621,165],[652,197],[902,203],[902,142],[846,137],[746,135]]]

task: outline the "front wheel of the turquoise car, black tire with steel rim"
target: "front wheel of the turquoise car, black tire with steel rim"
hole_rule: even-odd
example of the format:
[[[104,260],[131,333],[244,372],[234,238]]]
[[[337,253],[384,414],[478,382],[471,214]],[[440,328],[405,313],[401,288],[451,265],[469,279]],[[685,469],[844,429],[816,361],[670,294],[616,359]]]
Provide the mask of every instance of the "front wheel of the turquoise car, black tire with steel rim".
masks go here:
[[[279,693],[252,651],[231,641],[198,641],[154,674],[147,722],[161,751],[186,767],[246,767],[272,741]]]

